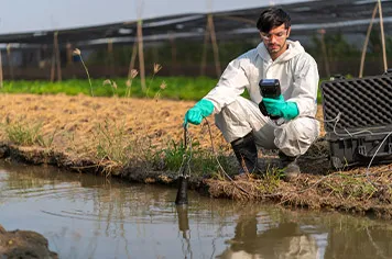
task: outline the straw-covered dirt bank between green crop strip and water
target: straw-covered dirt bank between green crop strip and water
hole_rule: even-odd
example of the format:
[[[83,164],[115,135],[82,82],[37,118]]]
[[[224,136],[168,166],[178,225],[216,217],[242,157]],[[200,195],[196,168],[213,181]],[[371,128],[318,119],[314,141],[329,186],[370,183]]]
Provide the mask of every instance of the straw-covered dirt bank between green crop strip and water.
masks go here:
[[[194,104],[29,94],[1,94],[0,103],[1,157],[170,185],[175,184],[183,159],[183,116]],[[317,116],[322,119],[320,108]],[[211,196],[392,215],[390,165],[372,167],[371,173],[366,168],[333,172],[328,145],[320,139],[301,158],[303,173],[293,182],[282,181],[280,171],[271,168],[264,178],[232,181],[225,173],[233,177],[237,164],[213,120],[192,125],[189,134],[190,187]],[[274,154],[261,156],[276,159]]]

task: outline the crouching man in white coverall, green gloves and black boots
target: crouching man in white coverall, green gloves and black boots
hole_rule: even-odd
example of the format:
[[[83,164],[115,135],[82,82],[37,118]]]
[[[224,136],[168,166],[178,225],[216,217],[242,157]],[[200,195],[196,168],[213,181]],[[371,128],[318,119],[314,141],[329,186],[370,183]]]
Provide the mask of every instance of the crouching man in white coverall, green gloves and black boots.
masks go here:
[[[232,146],[244,172],[258,171],[258,149],[279,149],[287,179],[300,173],[297,157],[317,138],[318,71],[314,58],[298,42],[287,40],[290,15],[282,9],[263,11],[257,23],[262,42],[232,60],[217,86],[185,114],[185,125],[198,125],[215,113],[216,125]],[[260,94],[261,79],[279,79],[282,95]],[[240,97],[248,90],[250,100]],[[277,124],[259,109],[263,102],[270,115],[284,119]]]

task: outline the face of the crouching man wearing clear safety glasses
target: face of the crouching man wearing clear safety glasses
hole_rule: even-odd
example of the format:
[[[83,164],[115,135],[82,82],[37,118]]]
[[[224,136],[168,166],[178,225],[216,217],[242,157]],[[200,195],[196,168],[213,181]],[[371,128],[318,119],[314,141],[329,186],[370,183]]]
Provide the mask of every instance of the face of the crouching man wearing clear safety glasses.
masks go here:
[[[270,55],[280,55],[285,50],[286,38],[290,35],[291,27],[285,29],[284,24],[273,27],[269,33],[260,32],[261,40],[269,50]]]

